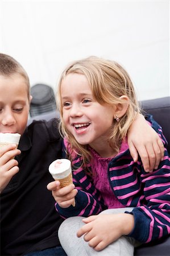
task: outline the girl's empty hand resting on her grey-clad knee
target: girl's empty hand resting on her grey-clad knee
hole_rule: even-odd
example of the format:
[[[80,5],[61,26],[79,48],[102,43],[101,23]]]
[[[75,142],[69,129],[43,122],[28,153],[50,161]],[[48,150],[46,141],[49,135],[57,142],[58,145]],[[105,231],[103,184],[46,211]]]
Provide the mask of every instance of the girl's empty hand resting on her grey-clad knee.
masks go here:
[[[82,221],[86,225],[78,230],[77,237],[84,235],[84,240],[96,251],[129,234],[134,228],[134,217],[127,213],[93,215]]]

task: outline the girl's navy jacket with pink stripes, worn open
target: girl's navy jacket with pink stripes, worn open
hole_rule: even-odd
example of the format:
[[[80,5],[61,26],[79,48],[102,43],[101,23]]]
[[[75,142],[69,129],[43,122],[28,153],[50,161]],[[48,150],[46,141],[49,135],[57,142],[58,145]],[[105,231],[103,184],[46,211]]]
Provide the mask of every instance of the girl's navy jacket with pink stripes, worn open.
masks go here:
[[[165,144],[161,127],[152,117],[149,118]],[[105,196],[103,198],[97,181],[82,167],[80,155],[74,159],[73,168],[73,181],[78,189],[76,206],[61,208],[56,203],[60,215],[64,218],[88,217],[107,209],[108,201]],[[88,168],[93,169],[92,163]],[[140,158],[136,163],[133,161],[128,148],[109,159],[106,168],[113,200],[116,197],[120,207],[134,207],[129,214],[134,215],[135,226],[129,236],[140,242],[150,242],[170,234],[170,158],[166,148],[164,159],[152,173],[144,171]]]

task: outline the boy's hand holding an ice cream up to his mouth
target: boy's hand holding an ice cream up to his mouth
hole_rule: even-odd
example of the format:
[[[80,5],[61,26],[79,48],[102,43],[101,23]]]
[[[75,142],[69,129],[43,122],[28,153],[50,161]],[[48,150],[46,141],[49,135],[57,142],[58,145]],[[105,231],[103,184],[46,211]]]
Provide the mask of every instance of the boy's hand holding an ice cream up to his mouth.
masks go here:
[[[0,150],[0,193],[19,171],[18,162],[13,158],[20,154],[20,150],[15,148],[15,144],[9,144]]]

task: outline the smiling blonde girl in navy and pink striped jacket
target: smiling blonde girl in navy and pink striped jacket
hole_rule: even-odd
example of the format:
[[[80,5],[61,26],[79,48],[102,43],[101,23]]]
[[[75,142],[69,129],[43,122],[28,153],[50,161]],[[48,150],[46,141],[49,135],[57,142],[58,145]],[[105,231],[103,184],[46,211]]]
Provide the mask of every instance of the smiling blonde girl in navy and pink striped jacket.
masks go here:
[[[54,181],[48,189],[61,216],[90,216],[61,225],[66,253],[133,255],[134,246],[169,234],[168,152],[154,172],[132,159],[127,132],[140,109],[125,69],[98,57],[76,61],[63,72],[57,95],[74,185],[60,189]],[[165,144],[161,127],[152,117],[148,122]]]

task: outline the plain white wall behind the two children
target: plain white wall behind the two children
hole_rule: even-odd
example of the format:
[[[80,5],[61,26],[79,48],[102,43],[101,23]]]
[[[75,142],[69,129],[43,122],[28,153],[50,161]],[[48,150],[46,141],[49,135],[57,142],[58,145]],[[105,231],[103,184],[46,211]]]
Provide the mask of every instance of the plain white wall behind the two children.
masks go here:
[[[31,85],[97,55],[126,68],[139,100],[169,96],[169,1],[1,1],[0,51]]]

